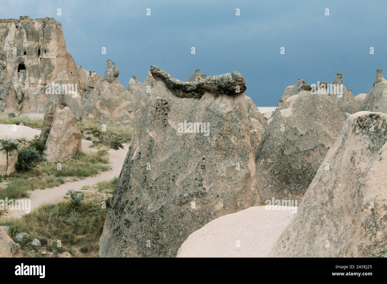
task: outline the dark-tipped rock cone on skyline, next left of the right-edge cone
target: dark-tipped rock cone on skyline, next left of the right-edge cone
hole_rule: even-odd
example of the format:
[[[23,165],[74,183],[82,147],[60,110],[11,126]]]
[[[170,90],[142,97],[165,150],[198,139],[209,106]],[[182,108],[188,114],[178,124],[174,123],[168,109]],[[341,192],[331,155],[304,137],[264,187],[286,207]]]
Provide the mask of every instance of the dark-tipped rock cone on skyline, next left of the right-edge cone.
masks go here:
[[[358,112],[359,105],[353,97],[352,90],[347,89],[342,84],[342,75],[340,72],[336,74],[336,77],[334,78],[332,85],[335,85],[335,86],[342,85],[342,94],[329,94],[330,98],[332,99],[334,104],[336,104],[336,107],[339,109],[339,111],[348,112],[350,114]],[[341,87],[339,87],[339,89],[341,90]],[[337,91],[336,93],[338,93]]]

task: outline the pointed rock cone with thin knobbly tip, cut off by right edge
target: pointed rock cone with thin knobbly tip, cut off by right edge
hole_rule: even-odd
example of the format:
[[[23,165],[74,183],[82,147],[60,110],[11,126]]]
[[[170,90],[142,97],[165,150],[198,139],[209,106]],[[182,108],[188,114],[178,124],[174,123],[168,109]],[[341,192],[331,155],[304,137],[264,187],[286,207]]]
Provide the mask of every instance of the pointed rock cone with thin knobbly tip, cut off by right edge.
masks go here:
[[[382,76],[382,69],[376,70],[376,80],[365,97],[361,110],[387,113],[387,80]]]

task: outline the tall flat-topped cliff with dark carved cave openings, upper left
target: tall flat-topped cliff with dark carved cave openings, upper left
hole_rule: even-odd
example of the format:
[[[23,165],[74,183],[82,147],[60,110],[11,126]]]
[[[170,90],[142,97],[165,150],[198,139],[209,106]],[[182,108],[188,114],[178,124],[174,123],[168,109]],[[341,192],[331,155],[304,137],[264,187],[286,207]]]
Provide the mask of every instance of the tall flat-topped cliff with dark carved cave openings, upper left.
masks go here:
[[[66,50],[62,26],[57,20],[27,16],[0,20],[0,53],[5,54],[12,88],[20,87],[23,94],[20,97],[19,93],[16,98],[15,90],[11,90],[14,98],[8,101],[4,113],[44,113],[52,91],[55,93],[58,85],[50,90],[46,87],[54,82],[54,86],[60,84],[74,115],[85,116],[82,95],[91,89],[98,75],[75,64]],[[75,94],[68,90],[69,86]]]

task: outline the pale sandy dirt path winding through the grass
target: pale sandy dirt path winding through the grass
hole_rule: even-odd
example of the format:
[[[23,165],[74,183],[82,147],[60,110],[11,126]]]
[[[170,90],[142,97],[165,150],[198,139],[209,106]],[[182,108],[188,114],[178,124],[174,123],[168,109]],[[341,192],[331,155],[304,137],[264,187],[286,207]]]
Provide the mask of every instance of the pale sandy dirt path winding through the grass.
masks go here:
[[[85,140],[86,141],[86,140]],[[83,140],[82,140],[83,142]],[[89,141],[87,141],[89,142]],[[61,201],[67,190],[73,189],[79,191],[85,185],[94,185],[97,182],[104,180],[111,180],[114,177],[118,177],[121,172],[123,162],[125,161],[126,154],[129,150],[129,144],[123,144],[124,149],[108,151],[110,156],[110,167],[111,170],[106,172],[99,173],[95,177],[87,177],[83,180],[78,180],[76,182],[67,182],[60,186],[48,188],[48,189],[35,189],[31,192],[28,200],[31,200],[31,211],[45,203]],[[8,213],[2,214],[1,219],[9,218],[20,218],[25,214],[25,210],[9,210]]]

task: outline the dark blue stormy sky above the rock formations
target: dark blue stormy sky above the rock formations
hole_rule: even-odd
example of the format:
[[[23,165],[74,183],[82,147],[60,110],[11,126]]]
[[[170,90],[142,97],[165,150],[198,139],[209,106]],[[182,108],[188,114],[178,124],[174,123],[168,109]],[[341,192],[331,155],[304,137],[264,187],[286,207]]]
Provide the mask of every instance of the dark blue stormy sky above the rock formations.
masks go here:
[[[78,65],[102,76],[111,59],[125,87],[132,75],[143,82],[152,64],[180,80],[197,68],[207,76],[237,70],[257,106],[276,106],[298,78],[332,83],[341,72],[357,95],[372,88],[378,68],[387,77],[386,0],[2,0],[0,11],[0,18],[54,17]]]

